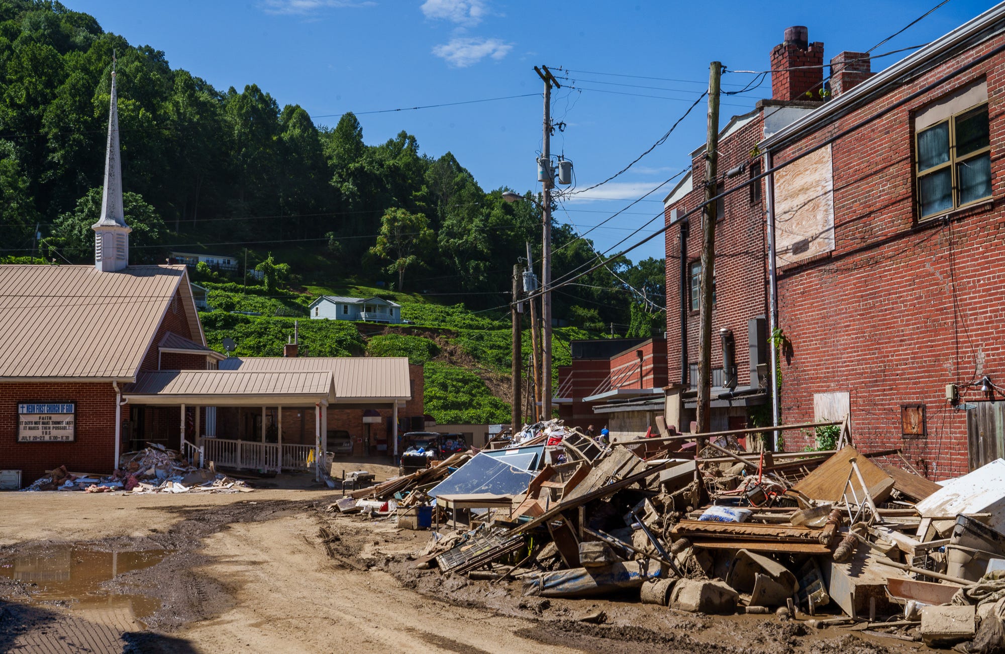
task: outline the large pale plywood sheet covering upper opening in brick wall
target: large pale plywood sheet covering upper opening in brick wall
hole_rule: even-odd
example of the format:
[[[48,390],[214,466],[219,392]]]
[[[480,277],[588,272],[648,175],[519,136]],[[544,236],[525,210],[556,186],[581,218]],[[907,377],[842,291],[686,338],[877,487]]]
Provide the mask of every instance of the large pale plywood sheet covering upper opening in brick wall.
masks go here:
[[[834,249],[834,176],[830,146],[775,173],[779,266]]]

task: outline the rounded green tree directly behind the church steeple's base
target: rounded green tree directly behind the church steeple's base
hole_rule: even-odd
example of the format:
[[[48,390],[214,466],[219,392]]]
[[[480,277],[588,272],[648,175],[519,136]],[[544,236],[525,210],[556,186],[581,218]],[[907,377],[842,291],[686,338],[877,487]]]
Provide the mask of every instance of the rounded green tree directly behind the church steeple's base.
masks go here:
[[[139,193],[123,193],[123,210],[130,233],[130,258],[133,263],[153,263],[159,257],[158,245],[167,231],[154,207]],[[52,225],[55,243],[68,259],[87,261],[94,252],[94,230],[102,213],[102,188],[91,189],[76,201],[76,207],[56,218]]]

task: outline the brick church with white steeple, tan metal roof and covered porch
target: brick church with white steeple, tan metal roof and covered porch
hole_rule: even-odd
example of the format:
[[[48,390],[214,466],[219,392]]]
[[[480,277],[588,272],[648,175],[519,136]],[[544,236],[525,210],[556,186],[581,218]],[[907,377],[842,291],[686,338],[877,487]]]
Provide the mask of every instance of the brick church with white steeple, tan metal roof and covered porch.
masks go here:
[[[335,424],[386,413],[397,453],[398,411],[421,398],[407,359],[227,359],[206,344],[185,265],[129,265],[112,74],[94,263],[0,265],[0,469],[106,474],[148,442],[223,467],[305,469],[324,461],[332,410]]]

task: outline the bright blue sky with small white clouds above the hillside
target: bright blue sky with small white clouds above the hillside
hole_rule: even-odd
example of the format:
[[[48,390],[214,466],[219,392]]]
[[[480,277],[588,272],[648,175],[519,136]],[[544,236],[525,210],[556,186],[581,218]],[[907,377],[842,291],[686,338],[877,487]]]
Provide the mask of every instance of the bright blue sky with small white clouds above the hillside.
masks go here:
[[[733,70],[765,70],[769,51],[790,25],[806,25],[811,41],[823,41],[827,60],[842,50],[867,50],[938,0],[63,3],[93,15],[107,31],[135,45],[164,50],[173,67],[190,70],[221,90],[257,83],[280,106],[304,106],[319,125],[334,125],[338,115],[356,112],[369,144],[405,130],[430,156],[452,152],[484,189],[524,191],[539,188],[540,95],[365,112],[540,93],[534,66],[561,66],[572,71],[571,85],[579,88],[553,92],[553,117],[566,125],[553,138],[552,152],[574,162],[577,184],[585,188],[620,170],[669,129],[708,86],[710,61]],[[993,4],[951,0],[875,52],[927,43]],[[873,70],[906,54],[877,59]],[[564,73],[555,71],[565,83]],[[736,89],[750,79],[746,73],[728,73],[724,88]],[[770,94],[767,81],[744,96],[724,97],[722,125]],[[705,140],[705,110],[702,101],[666,143],[614,182],[565,203],[558,218],[580,231],[589,229],[679,172]],[[591,232],[598,249],[611,248],[658,215],[671,186]],[[656,220],[628,242],[660,226]],[[661,239],[638,248],[631,258],[646,256],[662,256]]]

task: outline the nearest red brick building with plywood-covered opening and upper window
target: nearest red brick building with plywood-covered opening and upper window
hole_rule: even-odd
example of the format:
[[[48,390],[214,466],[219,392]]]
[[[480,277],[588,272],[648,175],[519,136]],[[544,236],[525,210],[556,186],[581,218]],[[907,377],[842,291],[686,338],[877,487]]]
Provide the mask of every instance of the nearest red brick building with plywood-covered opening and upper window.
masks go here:
[[[834,96],[760,143],[792,162],[773,182],[783,422],[850,411],[860,446],[936,479],[1005,454],[1003,28],[998,6],[874,75],[835,61]]]

